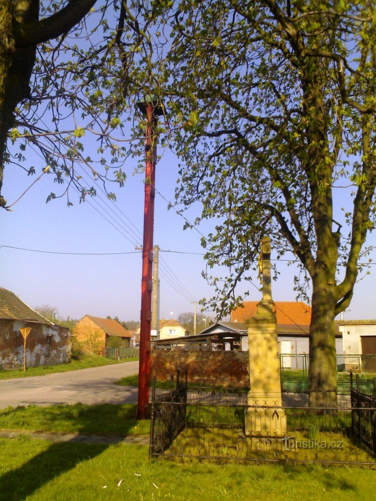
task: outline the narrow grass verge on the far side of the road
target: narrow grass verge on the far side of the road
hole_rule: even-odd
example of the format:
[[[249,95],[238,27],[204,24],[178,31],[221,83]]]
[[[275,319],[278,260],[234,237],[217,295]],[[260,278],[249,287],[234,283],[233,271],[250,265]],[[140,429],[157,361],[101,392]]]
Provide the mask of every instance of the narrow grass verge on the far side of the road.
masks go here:
[[[138,357],[127,358],[125,360],[115,361],[99,355],[81,355],[77,359],[73,359],[69,364],[49,365],[43,367],[30,367],[24,372],[23,370],[6,371],[0,369],[0,379],[13,379],[30,376],[45,376],[46,374],[54,374],[56,372],[77,371],[79,369],[89,369],[90,367],[100,367],[102,365],[118,364],[122,362],[133,362],[138,360]]]

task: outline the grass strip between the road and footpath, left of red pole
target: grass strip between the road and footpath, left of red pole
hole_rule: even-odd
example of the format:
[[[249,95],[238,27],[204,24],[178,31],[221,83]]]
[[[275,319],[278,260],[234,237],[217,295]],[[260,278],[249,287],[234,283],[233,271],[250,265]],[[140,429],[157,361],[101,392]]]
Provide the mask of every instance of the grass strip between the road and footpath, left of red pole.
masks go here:
[[[136,409],[136,404],[81,403],[8,407],[0,409],[0,429],[96,435],[148,435],[150,421],[137,421]]]

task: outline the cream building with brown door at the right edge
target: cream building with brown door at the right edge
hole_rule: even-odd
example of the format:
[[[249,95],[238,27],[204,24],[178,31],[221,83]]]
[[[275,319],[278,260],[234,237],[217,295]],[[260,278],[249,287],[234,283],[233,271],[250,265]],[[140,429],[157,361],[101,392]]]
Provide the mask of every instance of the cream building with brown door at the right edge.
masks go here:
[[[342,334],[345,368],[376,372],[376,320],[335,320],[334,324]]]

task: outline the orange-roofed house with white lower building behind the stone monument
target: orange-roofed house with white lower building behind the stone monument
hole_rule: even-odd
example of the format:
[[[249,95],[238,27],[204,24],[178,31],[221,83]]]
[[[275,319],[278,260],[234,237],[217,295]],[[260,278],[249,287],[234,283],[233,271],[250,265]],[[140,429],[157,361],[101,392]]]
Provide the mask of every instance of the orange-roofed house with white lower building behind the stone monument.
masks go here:
[[[240,334],[241,348],[248,350],[247,328],[244,322],[257,313],[257,301],[245,301],[244,308],[238,307],[231,312],[231,322],[218,322],[204,329],[200,334],[218,334],[229,337]],[[281,354],[281,364],[284,368],[301,369],[308,364],[309,355],[309,325],[311,322],[311,307],[302,302],[275,302],[277,316],[278,350]],[[236,344],[235,344],[236,346]],[[335,346],[337,365],[344,364],[342,334],[336,327]],[[229,348],[229,343],[224,345]]]

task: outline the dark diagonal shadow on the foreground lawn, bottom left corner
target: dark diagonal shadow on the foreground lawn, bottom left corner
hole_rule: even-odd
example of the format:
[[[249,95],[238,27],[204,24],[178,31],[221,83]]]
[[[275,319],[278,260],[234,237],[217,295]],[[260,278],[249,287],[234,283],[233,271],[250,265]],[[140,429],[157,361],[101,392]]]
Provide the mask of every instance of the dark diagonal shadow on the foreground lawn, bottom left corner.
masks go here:
[[[107,444],[85,445],[72,441],[53,443],[47,450],[0,477],[0,500],[27,499],[47,482],[71,470],[78,463],[101,454],[107,447]]]

